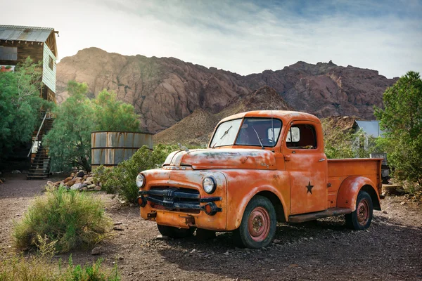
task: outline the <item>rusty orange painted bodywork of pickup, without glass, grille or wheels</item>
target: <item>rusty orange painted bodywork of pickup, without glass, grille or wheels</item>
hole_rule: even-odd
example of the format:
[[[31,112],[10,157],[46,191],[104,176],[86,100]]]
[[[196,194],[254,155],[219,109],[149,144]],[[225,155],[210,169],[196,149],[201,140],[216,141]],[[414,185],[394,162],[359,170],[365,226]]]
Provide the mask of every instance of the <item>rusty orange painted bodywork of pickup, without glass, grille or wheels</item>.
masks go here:
[[[327,160],[324,138],[319,119],[302,112],[254,111],[223,119],[243,117],[274,117],[283,121],[280,138],[274,148],[256,148],[245,145],[226,145],[205,150],[172,152],[162,169],[143,171],[146,176],[144,190],[154,186],[193,188],[200,197],[209,196],[202,188],[208,174],[219,175],[221,185],[212,196],[222,197],[218,207],[222,212],[207,216],[186,214],[167,209],[155,209],[151,204],[141,208],[141,216],[157,211],[156,221],[166,226],[186,228],[184,216],[195,218],[198,228],[234,230],[241,224],[243,212],[255,195],[271,197],[281,211],[279,218],[317,213],[319,216],[346,214],[356,209],[356,199],[362,188],[373,188],[374,199],[381,188],[382,159]],[[316,146],[288,147],[286,144],[291,126],[313,126]],[[223,178],[225,183],[223,183]],[[376,194],[376,196],[375,196]],[[293,217],[294,218],[294,217]],[[295,217],[299,220],[313,215]]]

